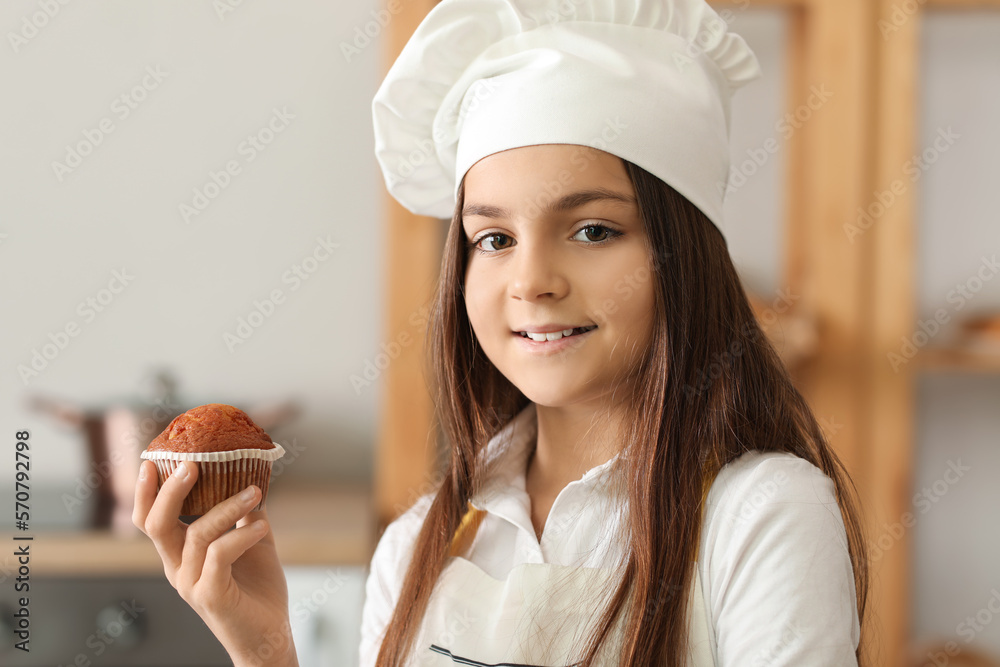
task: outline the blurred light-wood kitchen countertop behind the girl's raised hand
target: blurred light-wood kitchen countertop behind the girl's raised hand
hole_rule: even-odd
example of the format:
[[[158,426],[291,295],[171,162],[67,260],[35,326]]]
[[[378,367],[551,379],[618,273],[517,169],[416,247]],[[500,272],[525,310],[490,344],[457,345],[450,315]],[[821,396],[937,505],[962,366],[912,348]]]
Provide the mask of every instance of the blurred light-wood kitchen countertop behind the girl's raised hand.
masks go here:
[[[267,498],[278,557],[285,566],[367,566],[375,548],[375,513],[367,485],[297,484],[272,487]],[[10,545],[30,545],[32,576],[162,575],[163,564],[152,541],[135,531],[124,536],[110,530],[27,531],[6,545],[0,558],[0,581],[16,576],[17,560]]]

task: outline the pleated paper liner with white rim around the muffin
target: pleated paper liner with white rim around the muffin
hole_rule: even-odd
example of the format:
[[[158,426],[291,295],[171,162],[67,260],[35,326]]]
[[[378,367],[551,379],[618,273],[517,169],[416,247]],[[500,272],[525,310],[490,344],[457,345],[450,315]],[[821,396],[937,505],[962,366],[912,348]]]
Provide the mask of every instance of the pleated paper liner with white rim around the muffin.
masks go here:
[[[267,487],[271,481],[271,466],[284,453],[281,445],[275,443],[274,449],[237,449],[229,452],[144,451],[140,456],[153,461],[161,486],[181,461],[198,463],[198,480],[181,506],[182,515],[194,516],[207,513],[251,484],[261,490],[260,502],[253,509],[263,509],[267,501]],[[220,458],[223,460],[216,460]]]

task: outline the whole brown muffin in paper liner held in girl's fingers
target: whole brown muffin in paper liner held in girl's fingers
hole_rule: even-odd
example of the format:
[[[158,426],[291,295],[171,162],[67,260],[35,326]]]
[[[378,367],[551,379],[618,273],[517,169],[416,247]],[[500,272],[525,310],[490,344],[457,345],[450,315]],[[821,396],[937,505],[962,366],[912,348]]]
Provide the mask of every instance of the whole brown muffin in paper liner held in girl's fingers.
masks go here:
[[[181,507],[190,516],[205,514],[251,484],[262,492],[254,509],[264,507],[271,465],[284,453],[245,412],[209,403],[177,416],[140,456],[156,464],[161,486],[181,461],[198,464],[198,481]]]

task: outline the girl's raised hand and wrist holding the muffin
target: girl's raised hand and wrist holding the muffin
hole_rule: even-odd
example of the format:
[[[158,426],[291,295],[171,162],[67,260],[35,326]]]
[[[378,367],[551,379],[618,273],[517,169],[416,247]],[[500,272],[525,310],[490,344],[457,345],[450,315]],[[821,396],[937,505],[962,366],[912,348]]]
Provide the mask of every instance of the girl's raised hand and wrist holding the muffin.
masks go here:
[[[181,472],[178,472],[181,471]],[[182,462],[156,489],[156,466],[143,461],[132,523],[153,540],[170,585],[194,609],[236,667],[298,665],[288,615],[288,586],[267,512],[251,512],[260,489],[227,498],[190,525],[181,505],[198,477]],[[235,530],[229,530],[236,524]]]

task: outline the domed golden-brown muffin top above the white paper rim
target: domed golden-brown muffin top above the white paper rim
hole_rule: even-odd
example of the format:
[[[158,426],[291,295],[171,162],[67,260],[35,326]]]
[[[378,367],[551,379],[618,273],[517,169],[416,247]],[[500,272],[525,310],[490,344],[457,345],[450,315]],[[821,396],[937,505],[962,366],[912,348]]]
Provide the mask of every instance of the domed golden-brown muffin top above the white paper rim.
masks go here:
[[[229,452],[274,449],[271,437],[239,408],[209,403],[174,418],[149,443],[148,451]]]

